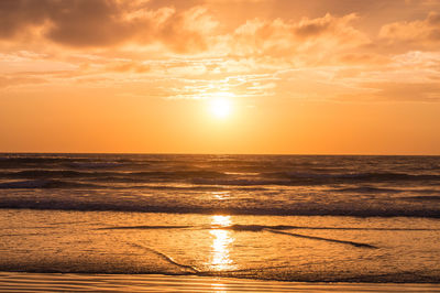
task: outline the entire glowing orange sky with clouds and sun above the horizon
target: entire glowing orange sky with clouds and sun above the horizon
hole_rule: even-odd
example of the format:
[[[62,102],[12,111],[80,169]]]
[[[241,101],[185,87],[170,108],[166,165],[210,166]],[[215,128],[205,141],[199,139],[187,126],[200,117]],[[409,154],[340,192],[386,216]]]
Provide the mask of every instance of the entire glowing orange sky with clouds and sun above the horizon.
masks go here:
[[[440,154],[438,0],[1,0],[0,152]]]

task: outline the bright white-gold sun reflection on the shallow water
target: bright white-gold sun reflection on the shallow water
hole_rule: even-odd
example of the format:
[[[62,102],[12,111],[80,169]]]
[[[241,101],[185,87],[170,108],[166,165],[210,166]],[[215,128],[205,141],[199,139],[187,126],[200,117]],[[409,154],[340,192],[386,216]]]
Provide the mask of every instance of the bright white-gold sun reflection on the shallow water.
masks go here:
[[[211,225],[219,227],[209,231],[213,237],[210,267],[216,271],[235,269],[230,258],[230,247],[234,238],[230,230],[221,229],[221,227],[227,227],[231,224],[231,216],[212,216]]]

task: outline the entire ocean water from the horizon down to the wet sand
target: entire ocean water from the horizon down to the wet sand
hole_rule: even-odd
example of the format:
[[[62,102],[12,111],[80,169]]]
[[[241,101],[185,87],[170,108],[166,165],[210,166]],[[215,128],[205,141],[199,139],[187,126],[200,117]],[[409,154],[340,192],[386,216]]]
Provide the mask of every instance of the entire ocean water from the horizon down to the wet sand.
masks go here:
[[[440,156],[0,154],[0,271],[440,283]]]

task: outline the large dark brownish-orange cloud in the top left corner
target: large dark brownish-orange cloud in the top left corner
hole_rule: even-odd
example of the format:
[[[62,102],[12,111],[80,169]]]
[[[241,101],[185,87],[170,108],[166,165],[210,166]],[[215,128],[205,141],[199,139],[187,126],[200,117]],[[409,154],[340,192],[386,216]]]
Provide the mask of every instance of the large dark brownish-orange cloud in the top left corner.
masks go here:
[[[207,34],[216,26],[200,7],[177,11],[152,10],[145,1],[0,1],[0,39],[37,31],[35,37],[77,48],[160,43],[178,53],[199,52],[207,48]]]

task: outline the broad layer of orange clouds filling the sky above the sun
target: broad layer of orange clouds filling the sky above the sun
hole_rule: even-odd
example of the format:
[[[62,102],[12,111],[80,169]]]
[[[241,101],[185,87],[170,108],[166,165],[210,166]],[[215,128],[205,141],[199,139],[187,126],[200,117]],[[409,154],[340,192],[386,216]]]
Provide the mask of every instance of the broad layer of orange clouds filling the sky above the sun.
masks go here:
[[[244,11],[274,2],[241,0],[237,7]],[[326,0],[318,12],[304,10],[297,17],[289,9],[279,11],[294,9],[294,1],[282,2],[268,14],[235,18],[235,18],[228,22],[219,10],[235,3],[229,0],[0,0],[0,87],[11,91],[47,83],[38,87],[99,86],[119,94],[134,88],[187,99],[234,93],[244,98],[440,101],[435,85],[440,78],[439,13],[424,10],[405,18],[396,10],[393,21],[407,21],[373,23],[364,2],[343,0],[351,6],[337,8],[337,0]],[[421,6],[385,2],[373,4],[384,10]],[[433,2],[426,3],[431,8]]]

